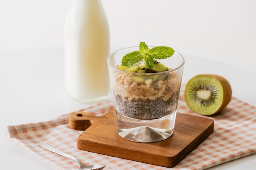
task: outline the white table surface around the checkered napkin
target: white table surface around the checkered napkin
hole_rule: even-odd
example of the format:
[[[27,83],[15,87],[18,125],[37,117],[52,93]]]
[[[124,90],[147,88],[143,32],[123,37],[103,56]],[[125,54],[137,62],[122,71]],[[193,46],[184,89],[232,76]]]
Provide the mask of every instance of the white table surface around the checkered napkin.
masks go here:
[[[197,74],[219,74],[231,84],[233,96],[256,107],[256,74],[217,61],[183,55],[183,81]],[[6,126],[47,121],[86,106],[74,102],[65,93],[63,47],[1,53],[1,169],[14,170],[18,166],[19,170],[53,170],[47,163],[13,144],[4,135]],[[210,169],[252,170],[255,167],[256,154],[253,154]]]

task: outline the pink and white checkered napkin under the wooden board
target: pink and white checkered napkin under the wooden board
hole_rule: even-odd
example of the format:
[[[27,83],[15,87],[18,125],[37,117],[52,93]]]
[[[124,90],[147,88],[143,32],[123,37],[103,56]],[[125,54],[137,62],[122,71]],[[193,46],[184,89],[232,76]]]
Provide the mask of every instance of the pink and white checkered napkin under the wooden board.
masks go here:
[[[101,116],[112,109],[112,102],[102,102],[81,111]],[[200,116],[191,111],[184,99],[184,85],[180,92],[180,113]],[[68,127],[68,114],[47,122],[7,126],[7,137],[54,168],[77,169],[78,164],[38,146],[45,142],[74,155],[86,164],[106,165],[105,169],[138,170],[203,170],[240,157],[256,153],[256,108],[232,97],[229,105],[215,116],[214,132],[184,158],[177,166],[165,168],[117,157],[90,153],[76,148],[77,137],[82,131]]]

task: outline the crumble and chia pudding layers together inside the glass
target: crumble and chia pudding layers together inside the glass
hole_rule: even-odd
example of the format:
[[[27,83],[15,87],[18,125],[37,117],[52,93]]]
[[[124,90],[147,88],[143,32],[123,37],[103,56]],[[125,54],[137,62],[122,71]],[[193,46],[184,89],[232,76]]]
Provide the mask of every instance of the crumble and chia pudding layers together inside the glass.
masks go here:
[[[181,77],[177,72],[159,74],[112,73],[113,104],[121,115],[158,119],[177,109]]]

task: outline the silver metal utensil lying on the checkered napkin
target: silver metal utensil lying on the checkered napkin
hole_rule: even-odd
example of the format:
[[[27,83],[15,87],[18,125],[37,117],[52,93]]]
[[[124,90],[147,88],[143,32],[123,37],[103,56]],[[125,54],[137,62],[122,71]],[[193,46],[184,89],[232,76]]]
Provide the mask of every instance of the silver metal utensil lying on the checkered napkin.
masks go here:
[[[100,165],[84,165],[79,159],[77,159],[76,157],[73,157],[72,155],[68,154],[68,153],[65,153],[64,151],[52,146],[52,145],[49,145],[49,144],[45,144],[45,143],[42,143],[42,144],[39,144],[41,147],[49,150],[49,151],[52,151],[58,155],[61,155],[63,157],[67,157],[67,158],[70,158],[70,159],[73,159],[74,161],[77,161],[80,165],[80,168],[78,168],[78,170],[102,170],[103,168],[105,168],[106,166],[100,166]]]

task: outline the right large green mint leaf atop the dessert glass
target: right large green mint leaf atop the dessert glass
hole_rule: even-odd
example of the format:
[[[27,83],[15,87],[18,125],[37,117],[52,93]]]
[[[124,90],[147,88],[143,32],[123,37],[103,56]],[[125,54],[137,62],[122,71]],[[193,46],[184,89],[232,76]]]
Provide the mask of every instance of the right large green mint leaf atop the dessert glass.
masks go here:
[[[157,46],[148,50],[148,54],[150,54],[154,59],[166,59],[171,57],[173,53],[173,48],[165,46]]]

